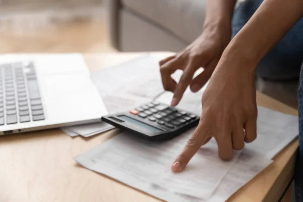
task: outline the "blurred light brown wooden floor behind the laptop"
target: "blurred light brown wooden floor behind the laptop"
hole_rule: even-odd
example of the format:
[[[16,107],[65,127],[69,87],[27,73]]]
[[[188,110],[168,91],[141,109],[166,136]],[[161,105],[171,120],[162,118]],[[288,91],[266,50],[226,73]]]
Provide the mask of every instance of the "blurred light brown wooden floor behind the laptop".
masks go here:
[[[0,54],[108,52],[115,52],[115,49],[108,43],[104,19],[58,24],[35,30],[35,33],[30,28],[22,34],[0,32]]]

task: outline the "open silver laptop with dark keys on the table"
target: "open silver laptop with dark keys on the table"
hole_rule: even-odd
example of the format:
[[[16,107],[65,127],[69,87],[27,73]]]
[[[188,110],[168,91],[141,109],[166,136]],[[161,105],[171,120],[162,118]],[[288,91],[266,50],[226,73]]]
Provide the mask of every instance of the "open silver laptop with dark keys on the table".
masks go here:
[[[80,54],[0,57],[0,135],[94,123],[104,115]]]

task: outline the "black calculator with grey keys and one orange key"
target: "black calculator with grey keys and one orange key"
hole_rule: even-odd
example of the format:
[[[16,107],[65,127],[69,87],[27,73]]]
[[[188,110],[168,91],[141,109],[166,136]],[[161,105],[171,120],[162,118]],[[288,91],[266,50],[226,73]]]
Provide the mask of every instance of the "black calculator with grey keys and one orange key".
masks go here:
[[[199,117],[154,101],[129,112],[103,116],[101,120],[149,139],[165,140],[197,125]]]

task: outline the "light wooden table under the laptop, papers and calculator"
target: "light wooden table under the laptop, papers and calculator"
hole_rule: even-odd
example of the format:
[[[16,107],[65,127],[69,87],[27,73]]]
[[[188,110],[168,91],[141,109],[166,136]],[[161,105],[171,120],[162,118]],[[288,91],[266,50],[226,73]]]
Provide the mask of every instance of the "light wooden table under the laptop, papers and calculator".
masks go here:
[[[161,59],[172,53],[155,53]],[[115,65],[139,53],[85,55],[90,70]],[[297,111],[257,93],[258,105],[283,113]],[[0,201],[159,201],[107,176],[87,170],[72,159],[117,134],[118,129],[90,138],[72,138],[60,129],[0,137]],[[239,189],[228,201],[277,201],[293,176],[293,141],[274,163]]]

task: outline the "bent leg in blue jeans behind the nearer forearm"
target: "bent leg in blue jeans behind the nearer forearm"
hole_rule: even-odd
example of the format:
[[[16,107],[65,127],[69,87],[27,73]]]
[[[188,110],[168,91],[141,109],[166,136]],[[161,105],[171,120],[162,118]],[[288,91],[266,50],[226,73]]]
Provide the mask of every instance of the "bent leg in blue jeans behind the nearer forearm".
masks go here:
[[[263,0],[246,0],[240,3],[232,20],[233,37],[254,15],[262,2]],[[300,66],[303,61],[301,58],[303,55],[303,35],[301,33],[303,33],[303,19],[261,60],[257,68],[257,75],[269,80],[299,78]]]

